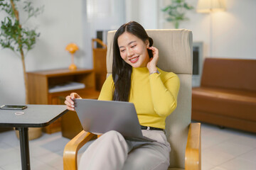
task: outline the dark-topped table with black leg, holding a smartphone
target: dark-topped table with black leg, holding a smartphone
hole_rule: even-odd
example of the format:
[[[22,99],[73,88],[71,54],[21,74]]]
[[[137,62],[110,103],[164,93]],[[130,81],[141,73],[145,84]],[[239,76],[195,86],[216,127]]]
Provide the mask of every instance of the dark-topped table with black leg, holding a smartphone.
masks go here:
[[[30,170],[28,128],[41,128],[67,112],[65,105],[27,105],[22,111],[1,110],[0,127],[19,131],[22,169]],[[23,112],[23,113],[22,113]]]

